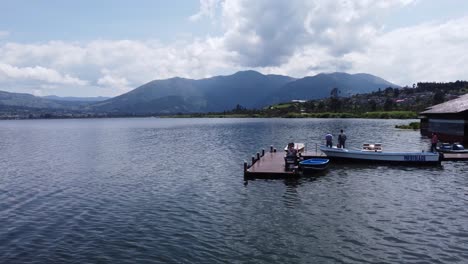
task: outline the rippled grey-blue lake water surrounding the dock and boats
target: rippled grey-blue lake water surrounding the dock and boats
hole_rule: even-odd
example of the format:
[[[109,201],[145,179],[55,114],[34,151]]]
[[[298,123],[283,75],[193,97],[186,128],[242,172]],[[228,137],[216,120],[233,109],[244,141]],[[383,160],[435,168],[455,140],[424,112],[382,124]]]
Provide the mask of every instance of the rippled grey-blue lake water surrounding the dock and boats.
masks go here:
[[[468,263],[468,162],[243,181],[262,148],[341,128],[349,148],[428,149],[409,122],[0,121],[0,262]]]

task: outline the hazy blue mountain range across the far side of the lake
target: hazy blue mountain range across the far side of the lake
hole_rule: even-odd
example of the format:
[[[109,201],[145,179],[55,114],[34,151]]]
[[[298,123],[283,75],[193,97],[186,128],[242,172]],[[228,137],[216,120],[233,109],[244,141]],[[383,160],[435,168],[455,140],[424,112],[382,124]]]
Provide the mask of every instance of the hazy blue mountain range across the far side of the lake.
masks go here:
[[[29,94],[0,92],[0,106],[122,114],[221,112],[231,110],[237,105],[262,108],[293,99],[329,97],[330,91],[335,87],[340,89],[340,96],[349,96],[399,86],[370,74],[322,73],[295,79],[282,75],[264,75],[256,71],[241,71],[233,75],[200,80],[179,77],[155,80],[107,100],[55,96],[41,98]]]

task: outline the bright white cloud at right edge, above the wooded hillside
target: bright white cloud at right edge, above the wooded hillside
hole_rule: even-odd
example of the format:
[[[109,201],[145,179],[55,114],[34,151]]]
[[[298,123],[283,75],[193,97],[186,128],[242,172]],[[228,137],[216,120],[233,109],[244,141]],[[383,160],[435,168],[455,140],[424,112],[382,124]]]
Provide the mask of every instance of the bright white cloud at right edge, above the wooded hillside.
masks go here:
[[[468,16],[396,29],[376,38],[365,52],[346,56],[353,70],[373,72],[402,85],[466,80]]]

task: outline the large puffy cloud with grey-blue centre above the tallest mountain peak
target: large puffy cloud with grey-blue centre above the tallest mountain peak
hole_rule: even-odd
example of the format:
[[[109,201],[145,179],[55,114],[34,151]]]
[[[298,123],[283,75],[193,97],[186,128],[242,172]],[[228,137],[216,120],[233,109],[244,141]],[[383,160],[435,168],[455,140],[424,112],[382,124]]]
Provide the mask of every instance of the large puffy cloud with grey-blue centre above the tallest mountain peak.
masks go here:
[[[226,0],[222,17],[228,50],[247,67],[285,63],[304,45],[334,56],[362,49],[381,30],[381,17],[410,0]]]

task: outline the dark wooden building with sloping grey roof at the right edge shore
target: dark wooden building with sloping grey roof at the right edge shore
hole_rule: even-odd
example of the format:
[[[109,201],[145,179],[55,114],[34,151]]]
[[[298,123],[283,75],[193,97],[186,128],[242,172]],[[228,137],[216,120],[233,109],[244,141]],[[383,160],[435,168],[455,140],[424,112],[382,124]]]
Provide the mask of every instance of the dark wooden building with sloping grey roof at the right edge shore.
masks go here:
[[[443,142],[468,144],[468,94],[420,113],[421,134],[437,133]]]

